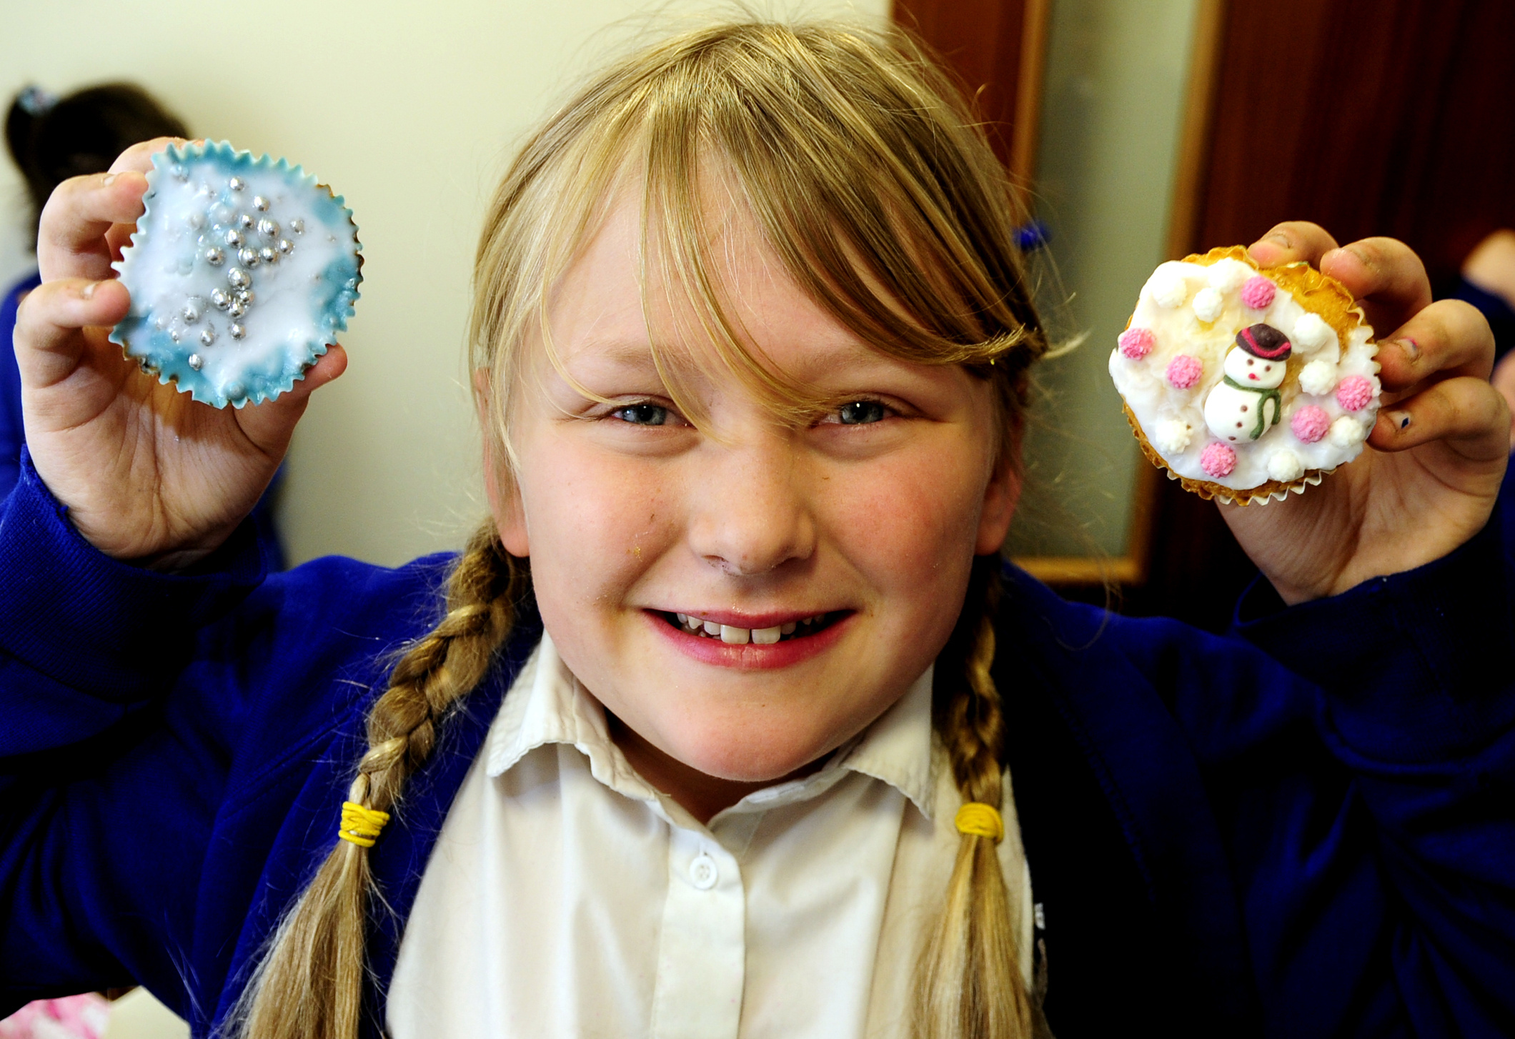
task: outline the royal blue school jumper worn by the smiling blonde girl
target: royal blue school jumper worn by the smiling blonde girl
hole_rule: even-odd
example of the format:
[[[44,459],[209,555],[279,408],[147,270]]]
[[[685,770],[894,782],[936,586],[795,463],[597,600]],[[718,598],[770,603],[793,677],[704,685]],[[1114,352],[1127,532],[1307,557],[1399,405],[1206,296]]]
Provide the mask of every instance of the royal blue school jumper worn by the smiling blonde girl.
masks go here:
[[[206,1034],[335,841],[367,706],[448,557],[112,562],[30,462],[0,513],[0,1016],[145,983]],[[1214,638],[1009,569],[1009,722],[1059,1039],[1515,1030],[1515,639],[1498,524]],[[371,851],[367,1034],[526,607]],[[838,950],[847,956],[848,950]]]

